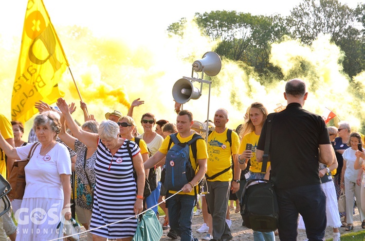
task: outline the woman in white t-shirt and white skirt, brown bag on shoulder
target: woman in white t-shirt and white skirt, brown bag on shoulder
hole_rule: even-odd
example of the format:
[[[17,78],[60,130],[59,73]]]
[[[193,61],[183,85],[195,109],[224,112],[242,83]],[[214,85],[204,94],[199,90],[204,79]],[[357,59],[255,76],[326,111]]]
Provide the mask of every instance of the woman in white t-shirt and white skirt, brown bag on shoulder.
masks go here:
[[[71,219],[71,158],[67,148],[55,141],[61,124],[52,112],[44,112],[35,118],[33,128],[40,143],[13,148],[0,135],[1,149],[17,160],[26,159],[37,145],[25,167],[27,184],[15,214],[19,241],[56,239],[61,211],[66,220]]]

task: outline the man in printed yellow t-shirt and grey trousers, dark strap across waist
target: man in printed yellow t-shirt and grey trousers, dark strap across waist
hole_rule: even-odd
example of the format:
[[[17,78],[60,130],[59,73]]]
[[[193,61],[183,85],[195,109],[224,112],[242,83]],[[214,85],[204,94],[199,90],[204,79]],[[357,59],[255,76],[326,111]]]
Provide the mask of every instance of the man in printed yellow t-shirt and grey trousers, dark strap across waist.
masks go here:
[[[228,111],[220,108],[214,115],[215,131],[208,135],[208,164],[205,174],[208,194],[205,195],[212,214],[213,240],[231,240],[232,234],[226,223],[228,197],[230,189],[236,193],[239,189],[241,170],[237,162],[239,138],[236,132],[226,127]],[[235,176],[232,186],[232,155],[235,161]]]

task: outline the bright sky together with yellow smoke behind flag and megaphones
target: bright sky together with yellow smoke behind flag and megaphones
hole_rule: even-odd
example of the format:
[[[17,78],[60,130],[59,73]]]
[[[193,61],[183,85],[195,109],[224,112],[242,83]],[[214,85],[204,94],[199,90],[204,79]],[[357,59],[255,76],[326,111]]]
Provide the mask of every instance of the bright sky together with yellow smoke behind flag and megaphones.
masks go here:
[[[350,7],[356,7],[358,2],[357,0],[339,1]],[[202,37],[197,29],[191,26],[188,28],[184,39],[168,39],[165,31],[169,24],[179,21],[182,17],[192,18],[196,12],[204,13],[216,10],[235,10],[252,15],[278,13],[287,16],[292,8],[300,2],[301,0],[184,0],[181,2],[167,0],[44,0],[51,21],[62,42],[66,56],[68,56],[73,75],[84,96],[84,101],[86,99],[92,104],[93,97],[100,94],[97,87],[106,83],[105,85],[110,88],[118,86],[121,91],[124,88],[125,93],[128,93],[130,102],[138,97],[146,100],[144,107],[135,111],[136,116],[142,112],[151,111],[157,114],[158,119],[164,117],[170,121],[176,116],[173,112],[172,86],[179,78],[189,76],[191,73],[191,58],[186,61],[186,56],[200,59],[203,53],[212,50],[214,43]],[[7,0],[2,3],[0,8],[0,50],[5,50],[11,55],[8,58],[6,58],[6,54],[0,55],[0,66],[2,66],[0,73],[1,70],[3,73],[0,76],[0,82],[2,86],[5,86],[0,89],[0,96],[3,97],[0,99],[0,113],[4,113],[7,117],[10,117],[10,109],[6,105],[10,105],[11,91],[9,90],[14,83],[26,5],[27,0]],[[105,52],[106,55],[110,54],[112,60],[115,61],[112,64],[107,61],[100,61],[95,57],[96,54],[92,56],[91,53],[88,53],[89,46],[82,46],[82,43],[73,42],[70,37],[62,35],[62,30],[66,26],[89,28],[93,36],[86,39],[89,40],[88,43],[92,41],[91,45],[100,47],[101,51]],[[103,42],[103,40],[105,41]],[[325,47],[320,46],[322,43]],[[322,39],[318,42],[318,47],[314,46],[311,49],[300,46],[296,42],[287,44],[294,45],[291,47],[293,50],[289,47],[281,49],[280,46],[277,46],[277,58],[284,58],[291,56],[291,54],[302,55],[308,58],[313,66],[317,66],[316,71],[320,66],[323,68],[319,69],[319,72],[331,73],[331,75],[319,74],[320,78],[327,80],[327,76],[341,75],[341,67],[337,66],[337,59],[341,57],[341,53],[338,53],[338,48],[329,44],[328,39]],[[285,44],[281,46],[285,46]],[[7,51],[8,49],[9,51]],[[286,51],[287,54],[282,54]],[[329,56],[330,54],[334,54],[334,56],[321,60],[322,56]],[[327,60],[333,60],[332,67],[327,66]],[[283,64],[289,63],[288,59],[274,59],[273,61],[280,63],[278,66],[282,69],[291,68]],[[326,66],[322,66],[322,64],[326,64]],[[64,76],[71,83],[69,73],[64,74]],[[244,116],[242,113],[246,110],[247,104],[255,101],[271,103],[274,106],[269,107],[269,112],[272,112],[276,107],[275,104],[283,101],[281,82],[278,82],[278,86],[271,93],[264,86],[260,86],[258,80],[243,73],[235,64],[224,62],[218,76],[221,86],[212,89],[210,117],[213,117],[216,106],[227,106],[226,108],[237,119],[232,120],[234,124],[231,128],[241,123]],[[229,83],[229,85],[225,83]],[[336,92],[338,83],[346,85],[346,76],[341,75],[339,78],[332,78],[330,82],[327,80],[323,84],[323,88],[328,90],[329,87],[326,85],[331,84],[331,89],[333,87],[333,92]],[[71,83],[70,86],[66,87],[72,90],[74,89],[72,85]],[[251,89],[251,93],[246,93],[249,91],[248,89]],[[154,91],[155,95],[151,95],[151,90]],[[74,90],[70,91],[71,94],[66,92],[67,98],[72,99],[75,103],[78,102]],[[324,92],[327,93],[328,91]],[[90,94],[90,97],[86,96],[87,93]],[[237,96],[234,101],[230,100],[233,94]],[[196,110],[198,120],[206,120],[205,111],[198,108],[198,106],[206,106],[206,95],[206,89],[203,89],[199,100],[186,103],[188,109]],[[264,96],[270,101],[264,100]],[[352,100],[351,98],[347,99]],[[313,101],[315,100],[321,102],[327,99],[316,97]],[[96,113],[94,114],[99,118],[103,118],[104,113],[110,111],[111,108],[121,110],[123,113],[127,111],[125,106],[114,100],[110,103],[115,104],[110,105],[104,102],[103,105],[95,103],[95,105],[88,106],[95,110]],[[159,108],[156,108],[156,105]],[[329,101],[323,101],[320,105],[331,107]],[[333,103],[333,106],[337,105],[337,103]],[[346,115],[347,113],[343,113],[343,116]],[[81,114],[78,114],[78,118],[80,116]],[[26,123],[28,130],[31,125],[30,122],[27,121]]]

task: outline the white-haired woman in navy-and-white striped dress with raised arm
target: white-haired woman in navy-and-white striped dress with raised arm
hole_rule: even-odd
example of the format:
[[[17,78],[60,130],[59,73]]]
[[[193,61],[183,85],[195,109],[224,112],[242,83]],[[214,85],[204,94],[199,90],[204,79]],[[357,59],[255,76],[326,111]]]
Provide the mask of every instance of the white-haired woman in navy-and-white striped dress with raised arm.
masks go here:
[[[96,185],[90,228],[97,229],[91,231],[93,240],[131,241],[137,228],[137,219],[133,216],[143,209],[145,171],[139,147],[135,142],[119,138],[119,126],[113,121],[102,121],[98,134],[80,130],[67,103],[59,98],[57,105],[75,138],[88,147],[96,147]],[[125,220],[127,218],[130,219]],[[112,224],[121,220],[125,221]]]

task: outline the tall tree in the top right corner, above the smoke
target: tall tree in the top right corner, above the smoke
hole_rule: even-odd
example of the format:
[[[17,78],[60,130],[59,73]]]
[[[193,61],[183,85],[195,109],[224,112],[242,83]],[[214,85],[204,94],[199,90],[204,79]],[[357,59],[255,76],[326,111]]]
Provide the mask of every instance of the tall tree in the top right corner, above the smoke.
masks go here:
[[[344,71],[353,77],[365,66],[365,42],[358,23],[365,26],[365,6],[356,9],[338,0],[303,0],[288,17],[291,35],[311,44],[319,34],[329,34],[331,40],[346,53]]]

